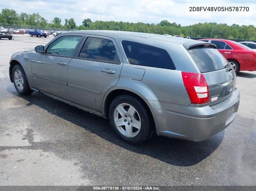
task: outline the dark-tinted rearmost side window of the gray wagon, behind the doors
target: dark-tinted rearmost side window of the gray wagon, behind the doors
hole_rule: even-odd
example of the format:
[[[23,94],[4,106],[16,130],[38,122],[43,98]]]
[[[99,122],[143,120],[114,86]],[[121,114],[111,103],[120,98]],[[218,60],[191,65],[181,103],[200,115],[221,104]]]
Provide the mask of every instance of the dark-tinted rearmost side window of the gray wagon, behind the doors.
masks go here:
[[[131,41],[122,41],[125,55],[130,64],[175,70],[174,63],[166,50]]]

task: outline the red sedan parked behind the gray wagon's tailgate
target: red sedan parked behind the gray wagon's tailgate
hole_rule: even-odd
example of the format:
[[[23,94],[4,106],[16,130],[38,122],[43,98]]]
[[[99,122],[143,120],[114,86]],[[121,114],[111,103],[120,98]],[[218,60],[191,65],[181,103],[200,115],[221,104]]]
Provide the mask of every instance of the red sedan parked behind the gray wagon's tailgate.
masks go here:
[[[213,43],[218,51],[230,62],[236,73],[242,70],[256,70],[255,50],[232,40],[224,39],[200,39],[201,41]]]

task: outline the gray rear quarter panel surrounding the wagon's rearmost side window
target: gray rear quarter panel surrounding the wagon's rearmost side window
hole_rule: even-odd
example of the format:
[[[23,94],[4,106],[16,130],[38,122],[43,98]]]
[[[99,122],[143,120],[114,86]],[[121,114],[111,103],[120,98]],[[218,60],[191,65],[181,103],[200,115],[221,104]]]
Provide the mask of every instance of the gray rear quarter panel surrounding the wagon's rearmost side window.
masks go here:
[[[126,87],[145,100],[157,100],[181,105],[191,104],[182,81],[181,71],[197,72],[197,69],[194,67],[182,45],[179,47],[177,47],[177,45],[171,46],[170,43],[163,45],[162,42],[158,43],[144,38],[135,38],[134,40],[131,40],[130,38],[126,39],[125,37],[122,37],[116,38],[115,40],[124,61],[120,79],[115,86],[116,89]],[[121,45],[122,40],[130,40],[165,49],[170,54],[176,70],[129,64]],[[190,67],[192,69],[190,69]],[[130,78],[133,68],[141,68],[145,70],[142,80],[134,80]]]

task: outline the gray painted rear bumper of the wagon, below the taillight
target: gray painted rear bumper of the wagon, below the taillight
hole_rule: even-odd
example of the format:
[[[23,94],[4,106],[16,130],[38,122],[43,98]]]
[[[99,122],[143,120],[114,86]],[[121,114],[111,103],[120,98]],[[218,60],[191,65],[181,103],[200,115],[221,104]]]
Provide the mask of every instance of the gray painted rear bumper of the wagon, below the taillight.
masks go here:
[[[228,99],[211,107],[190,107],[160,102],[161,110],[155,110],[154,116],[157,134],[195,142],[204,141],[233,122],[239,100],[240,93],[235,89]]]

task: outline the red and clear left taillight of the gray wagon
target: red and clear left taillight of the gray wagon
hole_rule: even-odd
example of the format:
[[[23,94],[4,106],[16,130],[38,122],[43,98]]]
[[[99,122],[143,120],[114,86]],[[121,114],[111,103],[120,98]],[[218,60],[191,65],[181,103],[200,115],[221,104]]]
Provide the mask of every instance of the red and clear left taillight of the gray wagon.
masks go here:
[[[191,103],[208,103],[209,87],[204,75],[190,72],[181,72],[181,75]]]

